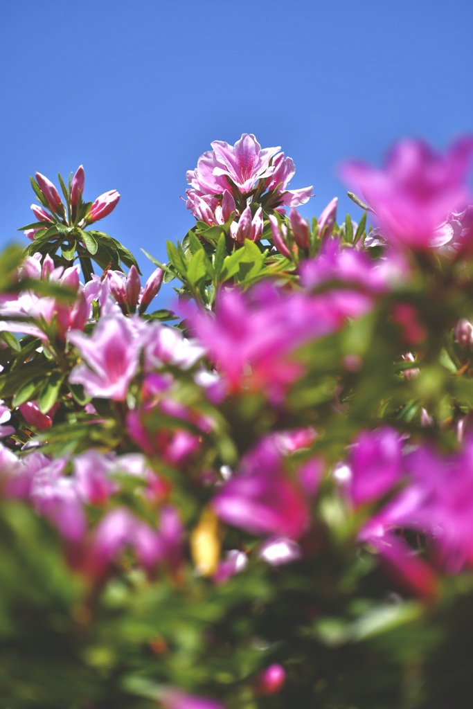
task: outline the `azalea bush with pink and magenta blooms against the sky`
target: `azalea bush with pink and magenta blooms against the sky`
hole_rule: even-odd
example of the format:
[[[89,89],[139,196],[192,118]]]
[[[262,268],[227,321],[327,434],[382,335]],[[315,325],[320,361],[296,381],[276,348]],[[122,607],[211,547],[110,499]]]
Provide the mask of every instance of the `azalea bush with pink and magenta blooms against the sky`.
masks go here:
[[[96,229],[116,190],[32,178],[0,260],[3,708],[471,707],[472,157],[348,162],[354,219],[307,222],[279,147],[215,141],[145,283]]]

